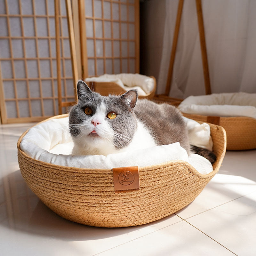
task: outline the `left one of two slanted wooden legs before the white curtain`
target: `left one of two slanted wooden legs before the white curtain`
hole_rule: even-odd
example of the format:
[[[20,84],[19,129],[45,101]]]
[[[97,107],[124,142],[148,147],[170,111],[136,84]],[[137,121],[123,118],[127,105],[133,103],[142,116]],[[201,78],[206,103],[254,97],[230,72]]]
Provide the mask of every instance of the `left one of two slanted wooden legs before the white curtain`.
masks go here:
[[[184,2],[184,0],[179,1],[178,11],[177,11],[175,30],[174,30],[173,41],[172,41],[172,52],[171,52],[170,64],[169,64],[169,69],[168,69],[168,76],[167,76],[167,81],[166,81],[166,86],[165,86],[165,93],[164,93],[164,95],[166,95],[166,96],[169,95],[169,92],[170,92],[170,89],[171,89],[173,64],[174,64],[174,60],[175,60],[176,47],[177,47],[178,37],[179,37],[180,20],[181,20],[183,2]]]

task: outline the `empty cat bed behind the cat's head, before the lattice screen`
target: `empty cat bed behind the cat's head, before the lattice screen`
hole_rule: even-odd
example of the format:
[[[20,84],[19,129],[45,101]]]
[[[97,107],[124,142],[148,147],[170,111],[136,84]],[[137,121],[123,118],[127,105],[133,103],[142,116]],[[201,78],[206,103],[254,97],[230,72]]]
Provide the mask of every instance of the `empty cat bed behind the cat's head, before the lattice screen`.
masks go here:
[[[128,90],[136,89],[140,99],[152,99],[156,93],[156,79],[154,76],[126,73],[104,74],[97,77],[88,77],[85,82],[94,92],[103,96],[119,95]]]

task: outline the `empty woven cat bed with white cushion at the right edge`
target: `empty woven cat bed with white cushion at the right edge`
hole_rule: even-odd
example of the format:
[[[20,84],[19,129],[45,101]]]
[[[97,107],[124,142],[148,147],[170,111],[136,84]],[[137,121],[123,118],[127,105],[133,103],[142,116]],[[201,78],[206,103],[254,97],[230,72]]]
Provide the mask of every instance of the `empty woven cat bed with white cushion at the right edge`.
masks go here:
[[[185,117],[222,126],[227,150],[256,148],[256,93],[189,96],[179,109]]]

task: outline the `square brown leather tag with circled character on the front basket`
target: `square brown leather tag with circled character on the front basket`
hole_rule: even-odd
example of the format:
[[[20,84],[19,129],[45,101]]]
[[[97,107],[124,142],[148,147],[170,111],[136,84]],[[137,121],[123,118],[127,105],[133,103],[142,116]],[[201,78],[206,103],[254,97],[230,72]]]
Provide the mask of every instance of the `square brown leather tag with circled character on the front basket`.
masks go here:
[[[112,170],[116,192],[140,189],[138,166],[113,168]]]

